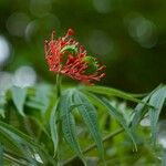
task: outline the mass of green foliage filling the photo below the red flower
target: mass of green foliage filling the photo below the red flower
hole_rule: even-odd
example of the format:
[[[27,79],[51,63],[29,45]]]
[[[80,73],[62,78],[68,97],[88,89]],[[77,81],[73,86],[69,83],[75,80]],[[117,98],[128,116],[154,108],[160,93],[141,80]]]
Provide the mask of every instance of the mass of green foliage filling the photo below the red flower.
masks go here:
[[[62,89],[60,97],[46,83],[13,86],[0,96],[1,165],[72,165],[77,157],[84,165],[95,160],[100,165],[162,163],[156,133],[166,100],[165,85],[146,95],[104,86]],[[151,120],[149,128],[139,125],[145,116]],[[131,152],[135,157],[129,158]]]

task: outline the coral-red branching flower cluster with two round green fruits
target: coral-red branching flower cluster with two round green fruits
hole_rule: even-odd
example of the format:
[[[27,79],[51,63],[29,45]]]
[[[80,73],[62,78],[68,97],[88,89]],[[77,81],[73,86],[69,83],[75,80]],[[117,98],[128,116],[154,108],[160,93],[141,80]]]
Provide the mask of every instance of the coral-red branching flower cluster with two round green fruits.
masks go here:
[[[54,40],[52,32],[51,41],[45,41],[45,59],[50,71],[64,74],[85,84],[100,81],[105,73],[101,73],[105,65],[100,65],[73,38],[73,30],[69,29],[63,38]]]

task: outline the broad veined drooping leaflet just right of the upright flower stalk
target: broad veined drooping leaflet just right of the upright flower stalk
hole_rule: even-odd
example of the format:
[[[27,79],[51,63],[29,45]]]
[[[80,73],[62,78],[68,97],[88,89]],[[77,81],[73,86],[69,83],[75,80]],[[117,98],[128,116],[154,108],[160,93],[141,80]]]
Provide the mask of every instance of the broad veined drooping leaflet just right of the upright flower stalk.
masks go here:
[[[84,156],[81,152],[77,136],[76,136],[74,117],[71,114],[71,106],[73,105],[72,104],[72,95],[73,95],[73,91],[68,90],[60,97],[59,110],[60,110],[60,115],[62,118],[61,120],[62,121],[62,132],[63,132],[64,138],[70,144],[71,148],[76,153],[76,155],[85,164]]]

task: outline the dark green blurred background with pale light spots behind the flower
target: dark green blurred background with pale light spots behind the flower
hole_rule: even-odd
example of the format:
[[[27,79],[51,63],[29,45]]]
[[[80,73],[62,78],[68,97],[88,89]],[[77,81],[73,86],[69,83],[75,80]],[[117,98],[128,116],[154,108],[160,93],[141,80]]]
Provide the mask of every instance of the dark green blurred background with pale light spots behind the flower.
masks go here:
[[[107,66],[100,84],[151,91],[166,82],[165,15],[165,0],[0,0],[0,89],[54,83],[43,43],[72,28]]]

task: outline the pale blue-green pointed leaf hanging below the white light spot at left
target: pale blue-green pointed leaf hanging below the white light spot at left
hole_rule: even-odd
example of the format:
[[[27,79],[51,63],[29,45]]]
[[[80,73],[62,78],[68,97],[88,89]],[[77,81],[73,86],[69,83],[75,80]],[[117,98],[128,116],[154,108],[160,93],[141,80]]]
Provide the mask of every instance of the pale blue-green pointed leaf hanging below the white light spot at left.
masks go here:
[[[24,116],[23,105],[24,105],[25,97],[27,97],[27,89],[13,86],[11,89],[11,95],[12,95],[12,101],[13,101],[18,112],[22,116]]]

